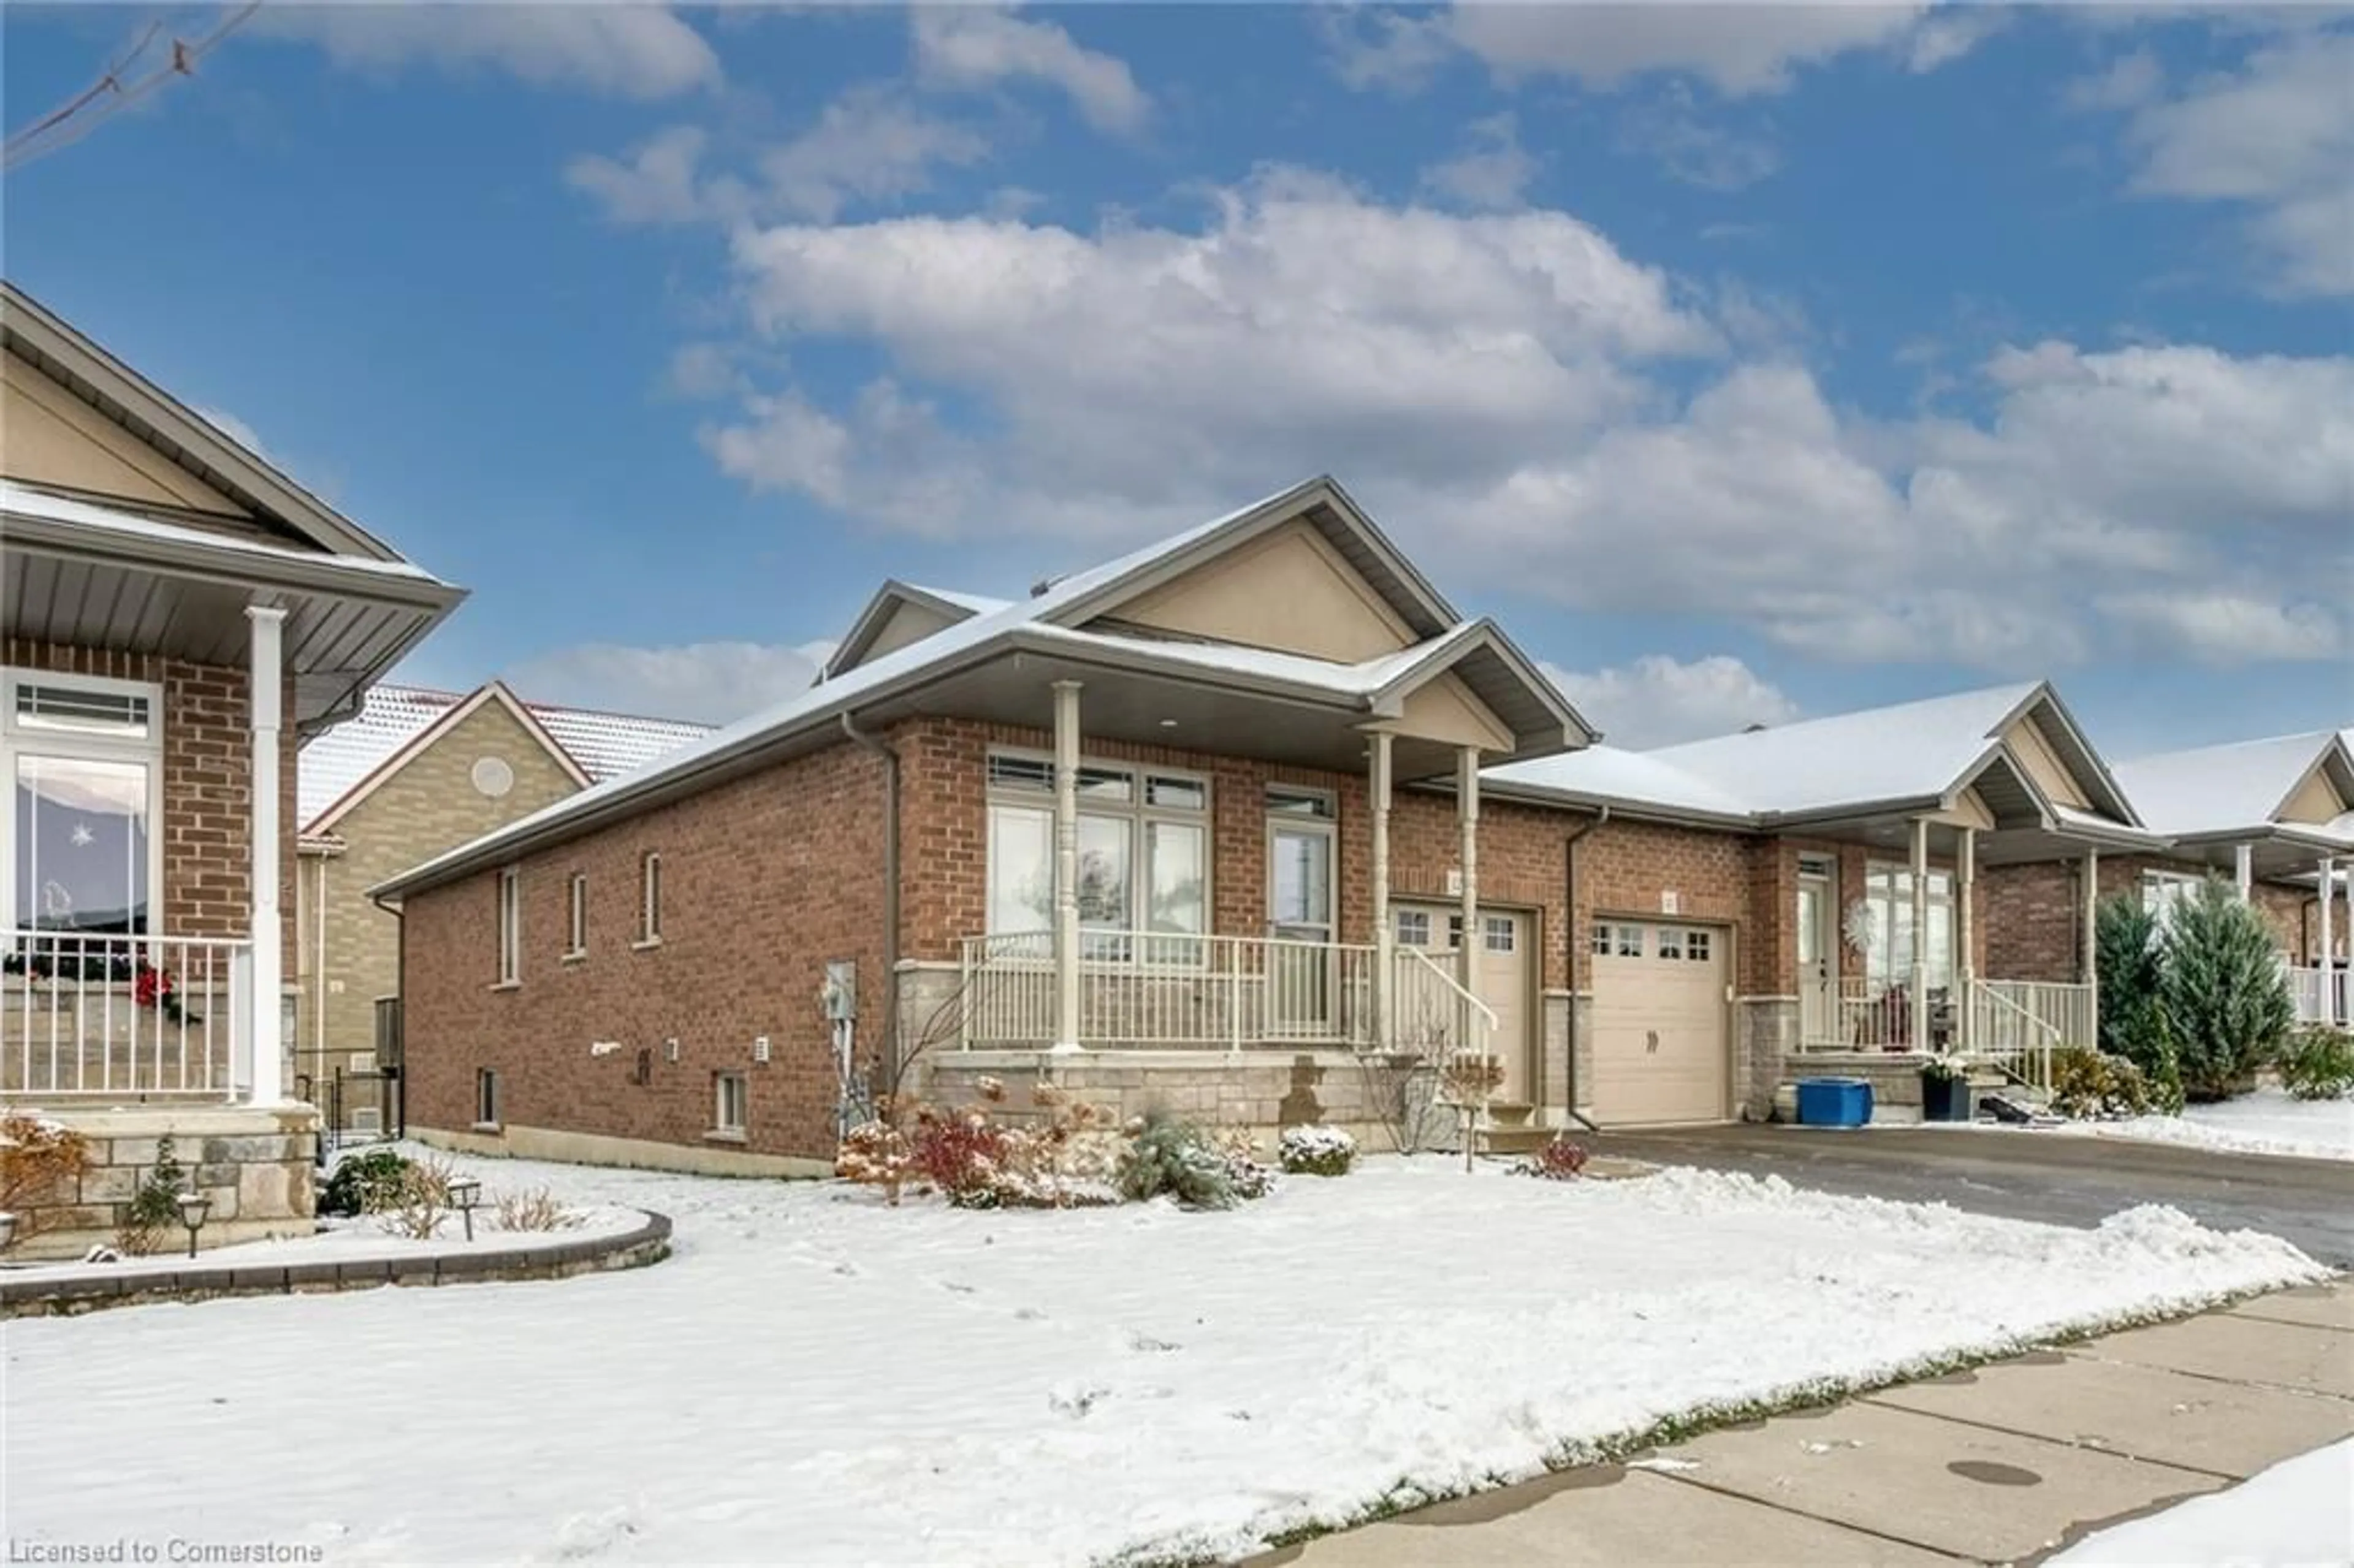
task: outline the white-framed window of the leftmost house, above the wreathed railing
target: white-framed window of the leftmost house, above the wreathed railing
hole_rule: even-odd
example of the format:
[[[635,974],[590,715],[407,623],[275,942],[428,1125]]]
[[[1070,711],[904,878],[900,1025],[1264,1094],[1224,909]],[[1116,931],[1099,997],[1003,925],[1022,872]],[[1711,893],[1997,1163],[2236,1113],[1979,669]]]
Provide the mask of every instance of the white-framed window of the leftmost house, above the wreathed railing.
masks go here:
[[[0,671],[0,928],[155,932],[162,692]]]

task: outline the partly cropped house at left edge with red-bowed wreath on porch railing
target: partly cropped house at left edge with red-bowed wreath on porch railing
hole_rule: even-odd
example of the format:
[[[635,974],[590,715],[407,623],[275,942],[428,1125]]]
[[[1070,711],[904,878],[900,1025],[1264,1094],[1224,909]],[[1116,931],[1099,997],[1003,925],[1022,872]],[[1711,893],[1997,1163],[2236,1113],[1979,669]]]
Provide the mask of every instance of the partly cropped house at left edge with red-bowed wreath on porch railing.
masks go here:
[[[299,737],[459,589],[0,285],[0,1109],[80,1128],[45,1253],[169,1132],[207,1241],[306,1224],[282,1081]]]

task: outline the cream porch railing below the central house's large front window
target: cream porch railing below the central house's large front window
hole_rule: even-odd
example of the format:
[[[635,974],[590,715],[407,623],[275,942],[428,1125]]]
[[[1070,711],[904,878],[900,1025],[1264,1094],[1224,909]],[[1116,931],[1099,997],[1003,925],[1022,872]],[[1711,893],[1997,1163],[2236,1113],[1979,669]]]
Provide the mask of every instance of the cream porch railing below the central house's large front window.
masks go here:
[[[1088,928],[1076,1045],[1370,1045],[1372,963],[1372,946],[1342,942]],[[965,937],[960,970],[965,1050],[1057,1043],[1052,935]]]

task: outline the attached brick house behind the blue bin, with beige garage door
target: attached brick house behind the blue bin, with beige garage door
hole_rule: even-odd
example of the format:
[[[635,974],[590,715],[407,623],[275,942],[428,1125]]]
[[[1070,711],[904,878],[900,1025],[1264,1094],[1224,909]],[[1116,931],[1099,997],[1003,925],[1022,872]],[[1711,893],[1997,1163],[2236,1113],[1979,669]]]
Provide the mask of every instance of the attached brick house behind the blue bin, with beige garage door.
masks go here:
[[[1591,746],[1483,791],[1594,815],[1570,1104],[1603,1125],[1763,1116],[1810,1074],[1869,1076],[1902,1114],[1937,1050],[2032,1078],[2093,1041],[2090,954],[2010,968],[1987,883],[2149,843],[2041,683]]]

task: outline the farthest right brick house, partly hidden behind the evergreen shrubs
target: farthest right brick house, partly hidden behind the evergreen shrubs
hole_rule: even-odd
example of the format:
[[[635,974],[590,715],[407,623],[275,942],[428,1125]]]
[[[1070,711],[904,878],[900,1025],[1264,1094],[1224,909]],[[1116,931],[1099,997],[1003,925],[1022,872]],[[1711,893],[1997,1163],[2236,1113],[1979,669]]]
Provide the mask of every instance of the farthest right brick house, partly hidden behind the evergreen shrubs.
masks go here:
[[[2097,897],[2163,911],[2227,878],[2272,925],[2300,1017],[2347,1022],[2347,906],[2354,871],[2354,751],[2321,730],[2168,751],[2116,765],[2152,843],[2093,869]],[[2069,977],[2081,949],[2086,866],[2006,869],[1989,885],[2003,961],[2034,979]],[[2328,897],[2323,895],[2328,890]]]

